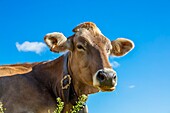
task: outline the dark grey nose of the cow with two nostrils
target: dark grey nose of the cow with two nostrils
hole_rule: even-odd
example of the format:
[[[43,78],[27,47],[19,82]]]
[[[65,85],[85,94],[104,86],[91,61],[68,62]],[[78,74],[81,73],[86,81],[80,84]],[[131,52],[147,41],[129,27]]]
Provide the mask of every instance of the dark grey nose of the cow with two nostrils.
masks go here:
[[[100,86],[106,86],[106,87],[114,87],[117,82],[117,76],[115,72],[107,72],[104,70],[100,70],[97,73],[97,80],[100,83]]]

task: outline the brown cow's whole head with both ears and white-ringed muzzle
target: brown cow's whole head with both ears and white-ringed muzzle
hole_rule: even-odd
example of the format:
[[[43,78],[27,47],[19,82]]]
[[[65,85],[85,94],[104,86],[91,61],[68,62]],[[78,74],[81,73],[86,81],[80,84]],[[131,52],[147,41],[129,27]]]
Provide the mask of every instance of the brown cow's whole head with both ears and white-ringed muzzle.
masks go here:
[[[108,58],[127,54],[134,48],[133,42],[125,38],[110,41],[92,22],[78,25],[73,32],[69,38],[49,33],[44,40],[53,52],[70,51],[69,65],[77,80],[101,91],[114,90],[117,75]]]

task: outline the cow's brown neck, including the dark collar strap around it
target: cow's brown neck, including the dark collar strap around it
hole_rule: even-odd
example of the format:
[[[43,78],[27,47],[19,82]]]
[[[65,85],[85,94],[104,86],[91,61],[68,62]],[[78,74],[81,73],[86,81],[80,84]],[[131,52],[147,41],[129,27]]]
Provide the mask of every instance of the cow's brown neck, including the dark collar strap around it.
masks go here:
[[[65,103],[75,103],[77,101],[78,96],[75,93],[73,79],[71,71],[69,71],[68,66],[68,54],[66,53],[61,57],[49,61],[42,62],[39,65],[35,66],[33,69],[32,76],[40,83],[40,85],[46,87],[51,90],[55,97],[60,97]],[[71,78],[71,84],[69,87],[64,89],[64,85],[62,86],[62,82],[66,79],[67,75]],[[71,98],[74,98],[73,100]],[[73,102],[74,101],[74,102]]]

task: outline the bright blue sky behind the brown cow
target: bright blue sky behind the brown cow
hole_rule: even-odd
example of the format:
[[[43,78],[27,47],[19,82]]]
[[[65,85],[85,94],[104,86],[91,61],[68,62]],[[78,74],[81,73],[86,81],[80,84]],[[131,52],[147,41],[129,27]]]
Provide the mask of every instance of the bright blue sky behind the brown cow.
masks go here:
[[[85,21],[96,23],[111,40],[135,43],[128,55],[111,58],[119,64],[117,89],[90,95],[89,112],[170,113],[168,0],[0,0],[0,65],[58,57],[43,44],[44,35],[70,36]]]

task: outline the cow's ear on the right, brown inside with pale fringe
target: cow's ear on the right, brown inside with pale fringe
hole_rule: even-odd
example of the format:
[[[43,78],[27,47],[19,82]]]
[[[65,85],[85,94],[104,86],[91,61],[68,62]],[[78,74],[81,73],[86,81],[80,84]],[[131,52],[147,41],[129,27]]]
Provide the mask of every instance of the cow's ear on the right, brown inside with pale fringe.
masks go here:
[[[118,38],[111,42],[113,56],[124,56],[134,48],[133,41],[125,38]]]

